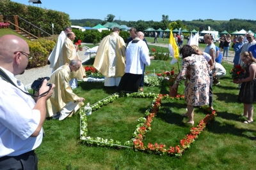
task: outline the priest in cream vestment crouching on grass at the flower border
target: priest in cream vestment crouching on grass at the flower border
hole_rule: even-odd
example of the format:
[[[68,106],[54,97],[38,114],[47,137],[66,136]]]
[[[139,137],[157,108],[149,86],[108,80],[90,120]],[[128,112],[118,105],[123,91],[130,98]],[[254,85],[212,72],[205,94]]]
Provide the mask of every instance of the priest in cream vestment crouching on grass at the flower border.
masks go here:
[[[81,106],[84,105],[83,97],[78,97],[72,91],[69,81],[74,78],[81,66],[81,60],[73,59],[70,64],[66,63],[51,74],[48,83],[56,85],[53,94],[47,100],[47,116],[59,118],[71,117]]]

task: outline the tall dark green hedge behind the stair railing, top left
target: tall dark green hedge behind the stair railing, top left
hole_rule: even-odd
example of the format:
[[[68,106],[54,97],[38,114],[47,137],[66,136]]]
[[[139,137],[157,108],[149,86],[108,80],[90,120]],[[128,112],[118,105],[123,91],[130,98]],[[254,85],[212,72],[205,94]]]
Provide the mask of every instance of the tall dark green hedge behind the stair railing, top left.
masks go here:
[[[10,0],[0,0],[0,13],[4,16],[18,15],[49,34],[52,34],[52,24],[54,24],[54,34],[60,34],[63,28],[67,25],[71,25],[70,17],[67,13],[47,10],[37,6],[28,6]],[[14,23],[13,17],[4,17],[4,20],[10,20],[10,22]],[[18,18],[19,27],[22,29],[25,29],[35,36],[38,36],[38,34],[40,34],[40,37],[49,36],[44,32],[38,32],[36,27],[33,27],[33,25],[28,24],[28,22],[24,20]],[[14,29],[13,25],[11,25],[11,27]]]

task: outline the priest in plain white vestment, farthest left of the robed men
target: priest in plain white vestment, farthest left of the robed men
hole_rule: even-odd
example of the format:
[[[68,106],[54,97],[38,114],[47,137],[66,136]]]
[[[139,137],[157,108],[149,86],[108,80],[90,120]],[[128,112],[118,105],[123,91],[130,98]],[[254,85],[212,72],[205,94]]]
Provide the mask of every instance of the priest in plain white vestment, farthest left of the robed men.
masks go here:
[[[65,38],[67,38],[67,34],[68,32],[71,32],[72,28],[71,27],[65,27],[65,29],[63,31],[61,31],[60,35],[58,36],[58,41],[55,45],[55,47],[53,48],[51,54],[48,57],[50,64],[50,68],[52,68],[52,72],[54,71],[54,66],[58,60],[58,57],[61,53],[61,49],[63,46],[63,43],[65,41]]]

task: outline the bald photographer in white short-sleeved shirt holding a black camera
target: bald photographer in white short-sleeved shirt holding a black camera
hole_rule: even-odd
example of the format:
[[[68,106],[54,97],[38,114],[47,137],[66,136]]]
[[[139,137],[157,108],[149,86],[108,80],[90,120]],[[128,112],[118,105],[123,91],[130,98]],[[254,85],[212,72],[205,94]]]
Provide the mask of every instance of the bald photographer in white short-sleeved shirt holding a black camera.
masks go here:
[[[42,143],[45,103],[55,85],[47,86],[44,80],[39,97],[25,94],[15,76],[24,73],[30,57],[24,39],[14,35],[0,38],[0,169],[37,169],[34,150]]]

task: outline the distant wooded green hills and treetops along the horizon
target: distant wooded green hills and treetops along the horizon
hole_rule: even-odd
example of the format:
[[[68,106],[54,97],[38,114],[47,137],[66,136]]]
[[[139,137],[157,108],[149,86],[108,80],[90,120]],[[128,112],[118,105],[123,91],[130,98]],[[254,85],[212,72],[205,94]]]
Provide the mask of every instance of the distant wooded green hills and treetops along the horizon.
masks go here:
[[[145,21],[145,20],[138,20],[138,21],[125,21],[125,20],[115,20],[115,15],[109,14],[107,15],[105,20],[99,19],[82,19],[82,20],[70,20],[72,25],[79,25],[81,27],[94,27],[97,24],[104,25],[107,22],[116,22],[119,25],[127,25],[127,27],[136,27],[138,31],[143,31],[148,29],[148,27],[152,27],[153,29],[187,29],[188,31],[192,31],[195,29],[196,31],[208,30],[208,26],[212,29],[222,32],[234,32],[240,31],[244,29],[246,31],[253,31],[256,33],[256,20],[244,20],[244,19],[230,19],[229,21],[217,21],[212,19],[202,20],[169,20],[168,15],[162,15],[161,22],[155,22],[153,20]]]

